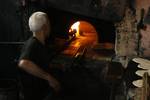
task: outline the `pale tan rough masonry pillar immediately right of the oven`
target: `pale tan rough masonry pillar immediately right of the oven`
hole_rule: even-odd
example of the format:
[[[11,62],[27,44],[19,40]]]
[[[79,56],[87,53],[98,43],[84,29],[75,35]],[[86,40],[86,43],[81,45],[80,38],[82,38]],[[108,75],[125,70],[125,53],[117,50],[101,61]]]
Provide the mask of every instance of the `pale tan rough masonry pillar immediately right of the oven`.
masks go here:
[[[136,15],[130,8],[126,8],[125,16],[122,21],[115,24],[115,61],[121,62],[123,67],[128,66],[132,57],[138,54],[138,32]]]

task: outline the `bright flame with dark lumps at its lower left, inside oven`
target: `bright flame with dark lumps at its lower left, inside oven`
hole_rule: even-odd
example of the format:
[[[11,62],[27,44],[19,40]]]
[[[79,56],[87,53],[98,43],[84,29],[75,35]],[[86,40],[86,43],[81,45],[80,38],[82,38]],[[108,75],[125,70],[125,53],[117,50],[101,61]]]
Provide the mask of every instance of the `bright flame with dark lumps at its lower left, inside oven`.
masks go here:
[[[80,36],[79,34],[79,25],[80,25],[80,22],[76,22],[74,23],[71,28],[69,29],[69,35],[72,35],[73,37],[78,37]]]

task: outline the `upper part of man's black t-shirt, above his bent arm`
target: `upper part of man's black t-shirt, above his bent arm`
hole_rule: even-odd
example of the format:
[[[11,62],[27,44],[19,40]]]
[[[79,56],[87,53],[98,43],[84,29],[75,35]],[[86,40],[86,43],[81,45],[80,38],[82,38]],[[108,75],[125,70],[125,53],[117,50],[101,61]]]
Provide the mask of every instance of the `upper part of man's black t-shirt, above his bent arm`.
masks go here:
[[[21,59],[27,59],[34,62],[40,68],[47,70],[50,63],[50,52],[48,51],[47,46],[44,46],[38,39],[31,37],[25,43]]]

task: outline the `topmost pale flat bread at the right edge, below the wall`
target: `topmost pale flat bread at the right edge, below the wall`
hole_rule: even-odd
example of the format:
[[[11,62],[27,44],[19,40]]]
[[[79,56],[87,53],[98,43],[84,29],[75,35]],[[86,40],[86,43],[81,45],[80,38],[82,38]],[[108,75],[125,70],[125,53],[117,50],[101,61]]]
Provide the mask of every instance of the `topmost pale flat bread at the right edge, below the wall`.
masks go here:
[[[143,59],[143,58],[133,58],[134,62],[139,63],[141,66],[149,66],[150,67],[150,60]]]

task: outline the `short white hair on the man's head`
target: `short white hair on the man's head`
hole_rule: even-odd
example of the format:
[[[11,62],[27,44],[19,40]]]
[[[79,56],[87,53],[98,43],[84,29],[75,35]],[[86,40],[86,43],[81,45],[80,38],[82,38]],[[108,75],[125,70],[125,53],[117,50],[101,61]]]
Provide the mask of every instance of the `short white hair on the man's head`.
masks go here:
[[[48,22],[47,14],[44,12],[35,12],[29,18],[29,28],[32,32],[39,32],[43,25]]]

